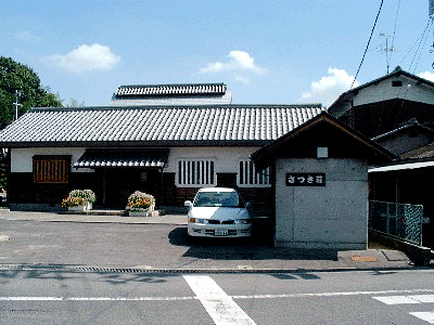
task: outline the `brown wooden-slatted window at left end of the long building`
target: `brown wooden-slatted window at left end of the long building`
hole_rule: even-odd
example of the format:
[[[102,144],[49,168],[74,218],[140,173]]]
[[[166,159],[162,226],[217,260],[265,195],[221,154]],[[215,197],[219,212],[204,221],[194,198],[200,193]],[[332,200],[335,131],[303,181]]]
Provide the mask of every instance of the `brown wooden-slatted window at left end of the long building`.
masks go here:
[[[34,156],[35,183],[67,183],[71,156]]]

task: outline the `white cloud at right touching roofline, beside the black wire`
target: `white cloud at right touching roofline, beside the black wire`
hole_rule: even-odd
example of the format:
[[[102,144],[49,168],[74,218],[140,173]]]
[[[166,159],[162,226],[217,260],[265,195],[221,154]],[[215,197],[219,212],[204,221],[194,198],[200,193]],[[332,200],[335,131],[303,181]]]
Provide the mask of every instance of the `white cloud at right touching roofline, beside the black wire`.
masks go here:
[[[329,75],[310,83],[310,90],[303,92],[301,101],[319,102],[324,106],[333,104],[345,91],[349,90],[354,77],[344,69],[329,68]],[[357,87],[358,82],[354,83]]]

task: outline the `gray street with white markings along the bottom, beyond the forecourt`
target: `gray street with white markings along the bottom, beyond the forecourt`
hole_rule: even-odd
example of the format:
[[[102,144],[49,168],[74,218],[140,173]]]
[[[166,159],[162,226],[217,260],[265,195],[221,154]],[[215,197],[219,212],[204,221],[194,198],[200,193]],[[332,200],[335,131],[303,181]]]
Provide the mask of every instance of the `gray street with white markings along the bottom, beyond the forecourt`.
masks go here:
[[[0,271],[0,324],[433,324],[434,271]]]

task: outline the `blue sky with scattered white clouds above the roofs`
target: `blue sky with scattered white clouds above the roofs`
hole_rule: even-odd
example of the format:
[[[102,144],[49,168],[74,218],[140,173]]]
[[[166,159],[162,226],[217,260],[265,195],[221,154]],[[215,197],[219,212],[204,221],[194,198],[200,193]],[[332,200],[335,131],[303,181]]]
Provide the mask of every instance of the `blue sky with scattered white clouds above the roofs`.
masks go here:
[[[30,66],[65,105],[107,105],[120,84],[225,82],[235,104],[329,106],[353,82],[380,3],[4,1],[0,55]],[[429,23],[427,0],[384,0],[356,84],[386,74],[386,39],[390,72],[434,80]]]

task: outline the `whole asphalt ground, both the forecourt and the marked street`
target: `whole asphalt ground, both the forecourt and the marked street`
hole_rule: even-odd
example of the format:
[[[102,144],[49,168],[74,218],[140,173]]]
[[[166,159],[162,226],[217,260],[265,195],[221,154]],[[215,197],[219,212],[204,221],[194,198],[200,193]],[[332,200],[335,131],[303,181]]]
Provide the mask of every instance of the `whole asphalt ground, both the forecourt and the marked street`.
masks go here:
[[[434,324],[432,269],[308,271],[342,261],[252,240],[191,244],[174,224],[0,220],[0,324]],[[201,271],[288,261],[295,271]]]

